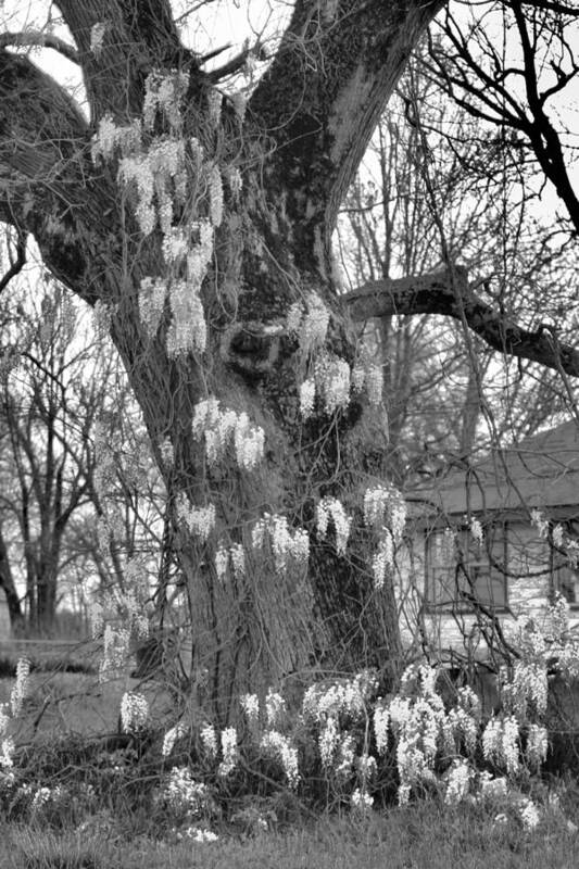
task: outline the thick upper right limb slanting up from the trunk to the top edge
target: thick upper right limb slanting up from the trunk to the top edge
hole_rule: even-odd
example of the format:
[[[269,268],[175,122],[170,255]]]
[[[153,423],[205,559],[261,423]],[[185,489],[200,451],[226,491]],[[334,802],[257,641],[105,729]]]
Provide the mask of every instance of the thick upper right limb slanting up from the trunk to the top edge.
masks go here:
[[[292,219],[328,249],[378,117],[440,0],[297,0],[249,116],[276,142]],[[275,164],[274,164],[275,165]],[[292,191],[294,194],[292,196]],[[312,242],[310,243],[312,247]]]

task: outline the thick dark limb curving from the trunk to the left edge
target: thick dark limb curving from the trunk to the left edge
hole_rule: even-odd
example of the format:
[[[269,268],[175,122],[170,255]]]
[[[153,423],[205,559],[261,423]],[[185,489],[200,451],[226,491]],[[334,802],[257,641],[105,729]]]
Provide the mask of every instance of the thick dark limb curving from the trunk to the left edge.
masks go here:
[[[104,242],[114,193],[108,179],[92,177],[88,140],[67,93],[28,58],[0,49],[0,219],[32,232],[47,266],[90,301],[119,228]]]

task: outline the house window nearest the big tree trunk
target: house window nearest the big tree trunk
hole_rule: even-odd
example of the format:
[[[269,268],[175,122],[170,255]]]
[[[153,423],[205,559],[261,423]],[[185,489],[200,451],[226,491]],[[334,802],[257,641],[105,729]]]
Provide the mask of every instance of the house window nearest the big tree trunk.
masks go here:
[[[506,526],[484,530],[482,543],[469,531],[456,532],[455,543],[436,530],[426,544],[426,590],[430,609],[473,609],[470,597],[491,609],[504,609],[506,589]]]

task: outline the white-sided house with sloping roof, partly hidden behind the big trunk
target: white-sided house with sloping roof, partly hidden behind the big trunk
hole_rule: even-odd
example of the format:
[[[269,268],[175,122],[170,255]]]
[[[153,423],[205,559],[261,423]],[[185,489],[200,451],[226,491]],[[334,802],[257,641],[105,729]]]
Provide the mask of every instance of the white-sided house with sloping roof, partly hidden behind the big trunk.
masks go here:
[[[578,421],[492,450],[408,502],[397,578],[407,644],[483,657],[475,601],[504,626],[542,618],[558,591],[579,622]]]

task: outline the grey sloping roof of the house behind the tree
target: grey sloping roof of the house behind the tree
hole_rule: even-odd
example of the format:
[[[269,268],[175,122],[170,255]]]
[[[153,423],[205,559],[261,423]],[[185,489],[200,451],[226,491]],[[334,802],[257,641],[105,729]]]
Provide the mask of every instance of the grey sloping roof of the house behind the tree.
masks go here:
[[[570,505],[579,513],[579,423],[493,449],[468,469],[452,470],[414,496],[424,500],[430,515]]]

